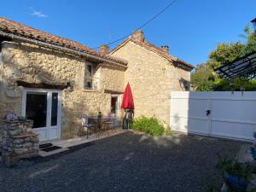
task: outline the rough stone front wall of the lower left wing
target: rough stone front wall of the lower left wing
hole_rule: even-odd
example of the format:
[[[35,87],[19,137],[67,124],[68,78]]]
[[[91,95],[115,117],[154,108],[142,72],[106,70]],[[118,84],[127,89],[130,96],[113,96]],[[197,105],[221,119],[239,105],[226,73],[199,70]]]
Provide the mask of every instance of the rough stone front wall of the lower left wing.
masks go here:
[[[84,58],[45,49],[32,44],[3,42],[0,65],[0,118],[5,113],[21,114],[23,87],[18,87],[15,80],[47,84],[66,84],[71,82],[73,91],[62,91],[62,123],[61,137],[74,137],[81,125],[81,115],[102,111],[110,111],[110,94],[104,87],[115,92],[124,90],[125,71],[119,67],[111,67],[86,61]],[[84,90],[85,64],[91,63],[95,68],[95,76],[100,81],[100,90]],[[1,69],[1,68],[0,68]],[[114,77],[114,81],[113,81]],[[106,84],[106,85],[105,85]]]

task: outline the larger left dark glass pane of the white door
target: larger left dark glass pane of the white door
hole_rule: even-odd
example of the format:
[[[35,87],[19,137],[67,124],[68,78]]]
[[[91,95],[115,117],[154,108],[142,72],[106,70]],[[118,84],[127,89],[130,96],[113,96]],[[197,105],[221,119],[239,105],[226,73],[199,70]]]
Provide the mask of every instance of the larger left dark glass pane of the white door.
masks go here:
[[[26,117],[34,121],[33,128],[45,127],[47,115],[47,94],[26,94]]]

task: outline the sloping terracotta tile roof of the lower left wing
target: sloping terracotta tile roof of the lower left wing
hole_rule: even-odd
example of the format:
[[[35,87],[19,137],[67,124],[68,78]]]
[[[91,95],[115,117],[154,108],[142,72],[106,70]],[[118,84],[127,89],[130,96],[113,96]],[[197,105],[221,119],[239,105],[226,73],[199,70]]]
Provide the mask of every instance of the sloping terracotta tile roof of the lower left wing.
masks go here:
[[[101,53],[97,52],[94,49],[90,49],[84,44],[79,44],[79,42],[69,40],[67,38],[61,38],[61,37],[52,35],[48,32],[44,32],[30,26],[26,26],[18,22],[15,22],[13,20],[5,19],[3,17],[0,17],[0,31],[14,34],[23,38],[31,38],[44,43],[55,44],[58,46],[69,48],[69,49],[75,49],[80,52],[85,52],[90,55],[96,55],[110,61],[116,61],[121,64],[126,64],[125,61],[119,60],[109,55],[102,55]]]

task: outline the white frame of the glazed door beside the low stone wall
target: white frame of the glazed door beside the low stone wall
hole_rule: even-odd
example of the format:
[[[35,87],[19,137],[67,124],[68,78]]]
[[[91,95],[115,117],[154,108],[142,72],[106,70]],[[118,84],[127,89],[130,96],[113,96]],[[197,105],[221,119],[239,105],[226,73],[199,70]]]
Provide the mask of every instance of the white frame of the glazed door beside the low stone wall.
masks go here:
[[[61,90],[49,90],[49,89],[34,89],[34,88],[24,88],[22,93],[22,107],[21,114],[22,116],[26,116],[26,94],[27,92],[35,92],[35,93],[45,93],[47,94],[47,115],[46,115],[46,126],[36,128],[35,131],[46,131],[46,138],[50,140],[49,129],[51,127],[55,127],[58,129],[57,131],[57,139],[61,138]],[[52,93],[58,93],[58,114],[57,114],[57,125],[50,125],[50,117],[51,117],[51,104],[52,104]]]

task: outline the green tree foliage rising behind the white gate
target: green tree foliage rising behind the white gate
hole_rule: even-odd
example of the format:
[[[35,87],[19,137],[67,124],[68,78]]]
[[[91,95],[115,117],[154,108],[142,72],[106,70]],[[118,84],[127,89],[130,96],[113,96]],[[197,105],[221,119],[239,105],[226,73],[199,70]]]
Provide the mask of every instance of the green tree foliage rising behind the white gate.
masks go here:
[[[248,26],[246,26],[244,32],[241,37],[246,38],[245,43],[218,44],[217,48],[209,54],[207,62],[195,68],[195,71],[191,73],[191,83],[195,90],[256,90],[255,79],[233,79],[234,85],[230,86],[230,80],[220,79],[218,74],[214,73],[215,68],[256,51],[256,33]]]

